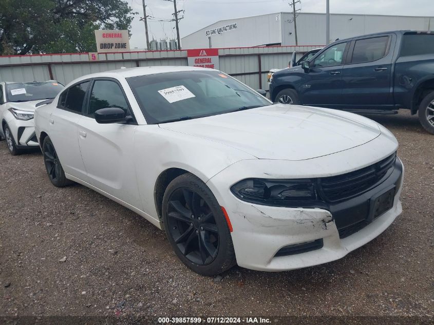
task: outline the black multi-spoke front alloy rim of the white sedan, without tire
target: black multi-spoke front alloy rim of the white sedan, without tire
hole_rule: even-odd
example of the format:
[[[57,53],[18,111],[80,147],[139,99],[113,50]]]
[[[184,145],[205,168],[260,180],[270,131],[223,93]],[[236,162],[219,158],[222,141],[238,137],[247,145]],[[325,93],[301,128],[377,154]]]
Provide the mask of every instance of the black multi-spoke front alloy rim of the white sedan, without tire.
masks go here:
[[[168,229],[181,253],[197,265],[213,262],[219,235],[210,207],[195,190],[186,187],[176,189],[168,203]]]

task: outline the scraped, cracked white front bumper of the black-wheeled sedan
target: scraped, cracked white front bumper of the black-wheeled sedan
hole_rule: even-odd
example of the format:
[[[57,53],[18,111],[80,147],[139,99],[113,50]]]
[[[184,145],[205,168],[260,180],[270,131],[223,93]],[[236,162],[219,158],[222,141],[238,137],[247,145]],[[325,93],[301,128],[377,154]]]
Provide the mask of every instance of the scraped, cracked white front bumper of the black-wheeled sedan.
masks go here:
[[[367,147],[370,154],[373,150]],[[401,214],[399,197],[404,170],[399,159],[396,172],[393,172],[382,186],[345,201],[345,204],[330,204],[330,209],[252,204],[239,200],[228,188],[228,181],[235,183],[244,178],[244,175],[245,178],[263,177],[263,170],[267,169],[277,171],[279,175],[276,178],[282,179],[297,178],[296,176],[300,178],[300,175],[324,177],[320,174],[322,169],[318,167],[336,166],[336,160],[342,161],[339,156],[334,154],[311,161],[242,161],[207,182],[230,217],[238,265],[258,271],[286,271],[334,261],[379,236]],[[353,157],[348,156],[347,152],[345,158],[350,171],[357,169],[354,168],[356,164],[369,165],[368,160],[372,161],[372,155],[365,156],[363,152],[362,155]],[[379,156],[377,160],[382,159],[384,156]],[[364,163],[363,160],[367,162]],[[251,175],[251,170],[258,170],[258,174]],[[371,198],[382,194],[390,186],[394,186],[396,191],[393,205],[387,212],[376,218],[370,218],[372,214],[369,213],[363,227],[350,235],[339,234],[343,227],[351,225],[352,222],[360,222],[360,211],[363,210],[361,207],[364,204],[369,206]],[[225,187],[228,188],[227,191],[219,192],[219,188]],[[298,251],[297,247],[300,247]],[[282,251],[286,254],[282,254]]]

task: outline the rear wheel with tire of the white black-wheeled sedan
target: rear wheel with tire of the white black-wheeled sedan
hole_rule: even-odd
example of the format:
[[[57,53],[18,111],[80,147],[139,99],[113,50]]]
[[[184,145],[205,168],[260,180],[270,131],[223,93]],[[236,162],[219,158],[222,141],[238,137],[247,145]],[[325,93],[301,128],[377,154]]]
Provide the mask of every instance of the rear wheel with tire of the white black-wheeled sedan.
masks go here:
[[[42,144],[42,155],[44,156],[48,178],[54,186],[64,187],[72,183],[65,177],[65,172],[49,137],[46,137]]]

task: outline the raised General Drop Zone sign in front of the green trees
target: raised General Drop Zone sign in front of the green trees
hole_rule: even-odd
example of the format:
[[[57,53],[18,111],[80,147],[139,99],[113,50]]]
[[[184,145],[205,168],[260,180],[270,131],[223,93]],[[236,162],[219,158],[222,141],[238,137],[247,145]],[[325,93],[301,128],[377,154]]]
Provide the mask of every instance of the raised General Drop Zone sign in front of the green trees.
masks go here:
[[[129,51],[127,30],[96,30],[95,39],[98,53]]]

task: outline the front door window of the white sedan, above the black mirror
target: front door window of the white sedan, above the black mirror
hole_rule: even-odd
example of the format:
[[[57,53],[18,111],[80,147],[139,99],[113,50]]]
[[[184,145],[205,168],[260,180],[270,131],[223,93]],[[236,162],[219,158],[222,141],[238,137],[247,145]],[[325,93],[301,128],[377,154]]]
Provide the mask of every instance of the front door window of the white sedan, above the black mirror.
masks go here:
[[[125,111],[126,116],[131,112],[120,86],[109,80],[96,80],[90,93],[88,115],[93,116],[101,108],[119,107]]]

